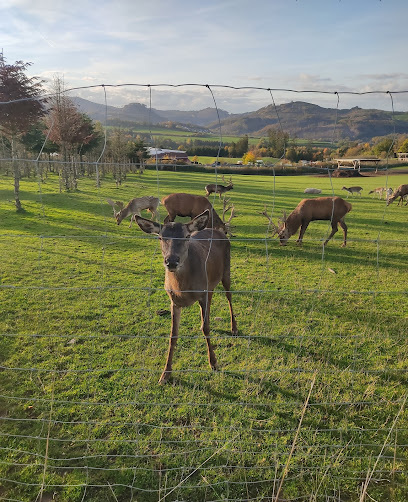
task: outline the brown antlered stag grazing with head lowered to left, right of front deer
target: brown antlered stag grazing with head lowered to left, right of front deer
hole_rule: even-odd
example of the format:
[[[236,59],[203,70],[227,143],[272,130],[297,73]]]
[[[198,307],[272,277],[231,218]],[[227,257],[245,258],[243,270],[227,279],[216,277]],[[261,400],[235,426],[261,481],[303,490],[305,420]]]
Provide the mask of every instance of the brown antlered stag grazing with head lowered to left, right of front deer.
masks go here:
[[[303,199],[295,207],[295,209],[286,217],[283,213],[282,224],[278,227],[272,222],[272,218],[268,216],[267,208],[261,213],[269,220],[269,224],[274,230],[274,234],[278,234],[281,246],[285,246],[289,238],[295,234],[300,227],[298,244],[302,244],[303,235],[311,221],[314,220],[329,220],[331,222],[332,231],[329,237],[324,241],[323,246],[329,242],[333,235],[338,231],[338,225],[343,230],[344,240],[342,247],[347,244],[347,225],[344,222],[344,217],[351,211],[351,204],[341,197],[317,197],[316,199]]]

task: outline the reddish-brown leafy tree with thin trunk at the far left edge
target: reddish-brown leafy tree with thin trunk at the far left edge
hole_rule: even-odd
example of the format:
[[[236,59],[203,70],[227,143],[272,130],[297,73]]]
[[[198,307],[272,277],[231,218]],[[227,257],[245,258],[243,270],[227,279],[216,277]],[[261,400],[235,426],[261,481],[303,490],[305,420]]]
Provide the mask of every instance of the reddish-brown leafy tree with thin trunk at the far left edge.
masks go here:
[[[31,64],[16,61],[14,65],[8,65],[3,54],[0,54],[0,101],[3,102],[0,105],[0,132],[10,142],[17,211],[21,210],[17,142],[45,114],[45,99],[41,98],[43,81],[26,75]]]

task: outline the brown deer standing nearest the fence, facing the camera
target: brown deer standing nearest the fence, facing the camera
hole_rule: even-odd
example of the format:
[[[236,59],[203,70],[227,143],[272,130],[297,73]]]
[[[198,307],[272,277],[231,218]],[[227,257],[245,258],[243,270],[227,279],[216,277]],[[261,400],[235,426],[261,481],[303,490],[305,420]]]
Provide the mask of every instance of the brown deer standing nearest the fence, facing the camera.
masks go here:
[[[164,225],[136,215],[139,227],[160,239],[165,267],[164,288],[171,302],[171,331],[164,370],[159,384],[166,383],[172,372],[181,309],[198,302],[201,309],[201,331],[207,342],[208,361],[217,369],[217,359],[210,340],[210,307],[214,289],[222,282],[228,300],[231,332],[238,333],[232,308],[230,277],[230,241],[216,228],[206,228],[211,218],[209,209],[188,223],[168,222]]]

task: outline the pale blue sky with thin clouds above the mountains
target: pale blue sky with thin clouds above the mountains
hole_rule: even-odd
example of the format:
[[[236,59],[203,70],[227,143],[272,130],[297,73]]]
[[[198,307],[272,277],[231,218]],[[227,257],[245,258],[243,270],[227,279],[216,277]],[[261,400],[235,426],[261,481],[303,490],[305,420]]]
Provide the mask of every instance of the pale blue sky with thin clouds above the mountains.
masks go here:
[[[408,111],[407,19],[407,0],[0,0],[0,50],[112,106]]]

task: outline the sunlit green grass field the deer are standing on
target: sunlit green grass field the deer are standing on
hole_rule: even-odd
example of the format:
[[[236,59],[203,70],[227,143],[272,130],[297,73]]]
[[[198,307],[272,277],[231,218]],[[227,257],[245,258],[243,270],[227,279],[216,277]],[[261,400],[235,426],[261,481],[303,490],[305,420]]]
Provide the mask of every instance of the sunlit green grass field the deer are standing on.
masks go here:
[[[408,207],[368,195],[407,176],[349,182],[364,189],[348,245],[339,231],[323,250],[327,222],[281,247],[260,213],[276,221],[306,187],[345,197],[345,180],[233,175],[239,334],[217,289],[211,372],[198,305],[185,309],[159,386],[158,242],[116,225],[106,198],[204,194],[209,176],[80,179],[72,193],[24,179],[21,213],[0,177],[0,499],[408,500]]]

